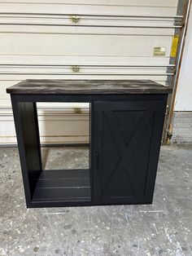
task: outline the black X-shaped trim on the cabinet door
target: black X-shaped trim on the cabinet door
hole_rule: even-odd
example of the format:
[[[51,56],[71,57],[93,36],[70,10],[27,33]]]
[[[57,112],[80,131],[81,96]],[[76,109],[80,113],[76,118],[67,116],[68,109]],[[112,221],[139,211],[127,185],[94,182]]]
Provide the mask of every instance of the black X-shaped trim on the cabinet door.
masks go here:
[[[131,155],[137,147],[137,143],[142,138],[147,126],[151,123],[154,117],[154,111],[146,110],[142,113],[137,123],[134,125],[133,133],[129,134],[127,141],[124,140],[120,126],[116,120],[116,115],[113,111],[107,110],[103,112],[103,118],[107,121],[108,129],[116,144],[116,148],[120,154],[120,159],[117,162],[111,176],[109,177],[105,188],[103,188],[102,197],[111,196],[116,188],[116,183],[120,182],[120,178],[125,171],[135,196],[144,196],[141,183],[137,177],[137,172],[133,166]]]

